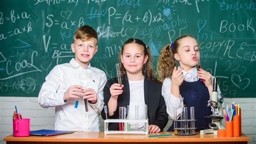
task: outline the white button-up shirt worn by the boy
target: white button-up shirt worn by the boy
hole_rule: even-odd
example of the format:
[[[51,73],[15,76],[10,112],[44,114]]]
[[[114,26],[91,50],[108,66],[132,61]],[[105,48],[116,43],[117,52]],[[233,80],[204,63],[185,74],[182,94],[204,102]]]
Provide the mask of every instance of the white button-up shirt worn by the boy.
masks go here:
[[[88,102],[89,111],[85,112],[84,99],[66,102],[63,95],[70,86],[80,85],[80,73],[89,76],[86,88],[92,88],[97,93],[96,104]],[[104,107],[103,89],[106,84],[106,74],[90,64],[87,68],[80,66],[75,59],[69,63],[55,66],[42,85],[38,95],[38,103],[44,108],[55,107],[55,129],[60,131],[99,131],[99,115]]]

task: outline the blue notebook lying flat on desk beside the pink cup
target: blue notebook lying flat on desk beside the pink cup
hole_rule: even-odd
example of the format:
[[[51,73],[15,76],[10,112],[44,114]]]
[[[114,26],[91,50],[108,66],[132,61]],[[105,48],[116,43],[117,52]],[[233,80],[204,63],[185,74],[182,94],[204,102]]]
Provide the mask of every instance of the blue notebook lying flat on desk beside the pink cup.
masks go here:
[[[51,135],[59,135],[59,134],[70,134],[73,131],[55,131],[51,129],[40,129],[37,131],[30,131],[30,135],[40,135],[40,136],[51,136]]]

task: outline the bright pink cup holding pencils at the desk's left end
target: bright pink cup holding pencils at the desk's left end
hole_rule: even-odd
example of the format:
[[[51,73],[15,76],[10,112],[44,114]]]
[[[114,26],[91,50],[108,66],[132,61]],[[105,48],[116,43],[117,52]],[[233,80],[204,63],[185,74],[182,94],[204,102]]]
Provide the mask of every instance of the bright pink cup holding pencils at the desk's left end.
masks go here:
[[[12,120],[14,136],[22,137],[29,136],[30,132],[30,119],[17,119]]]

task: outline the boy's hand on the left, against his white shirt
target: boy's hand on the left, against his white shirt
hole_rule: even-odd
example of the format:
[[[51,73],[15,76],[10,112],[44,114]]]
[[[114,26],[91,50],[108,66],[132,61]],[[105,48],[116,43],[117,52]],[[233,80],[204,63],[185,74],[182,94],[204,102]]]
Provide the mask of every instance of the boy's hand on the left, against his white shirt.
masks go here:
[[[64,100],[79,99],[82,97],[82,86],[74,85],[70,86],[63,95]]]

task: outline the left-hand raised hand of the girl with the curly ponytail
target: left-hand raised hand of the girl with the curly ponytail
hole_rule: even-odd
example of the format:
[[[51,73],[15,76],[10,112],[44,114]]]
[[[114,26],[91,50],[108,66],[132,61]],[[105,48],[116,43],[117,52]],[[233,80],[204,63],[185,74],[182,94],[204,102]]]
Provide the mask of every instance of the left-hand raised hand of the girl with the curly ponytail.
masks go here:
[[[184,76],[183,72],[181,72],[183,68],[179,68],[177,70],[177,67],[174,66],[173,72],[172,72],[172,85],[180,86],[183,83]]]

